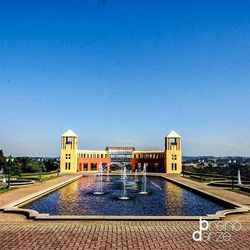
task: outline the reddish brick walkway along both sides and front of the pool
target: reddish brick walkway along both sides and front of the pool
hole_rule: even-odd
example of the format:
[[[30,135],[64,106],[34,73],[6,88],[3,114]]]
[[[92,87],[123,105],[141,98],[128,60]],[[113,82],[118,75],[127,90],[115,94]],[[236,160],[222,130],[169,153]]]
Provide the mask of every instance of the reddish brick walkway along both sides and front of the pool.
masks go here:
[[[62,176],[32,187],[25,187],[0,194],[0,204],[13,202],[21,195],[37,192],[56,185],[72,176]],[[188,185],[207,192],[215,192],[226,199],[248,204],[248,197],[221,188],[207,187],[188,179],[173,176]],[[237,197],[235,197],[237,196]],[[4,197],[4,199],[2,199]],[[246,201],[245,201],[246,199]],[[195,242],[192,233],[198,230],[198,221],[32,221],[22,215],[0,213],[0,249],[249,249],[250,214],[227,216],[222,222],[238,221],[238,231],[226,230],[211,234],[208,241]],[[240,224],[239,224],[240,223]],[[223,224],[220,224],[223,225]],[[231,224],[232,225],[232,224]],[[227,233],[226,240],[222,238]],[[228,235],[230,234],[230,239]],[[225,235],[225,234],[224,234]]]

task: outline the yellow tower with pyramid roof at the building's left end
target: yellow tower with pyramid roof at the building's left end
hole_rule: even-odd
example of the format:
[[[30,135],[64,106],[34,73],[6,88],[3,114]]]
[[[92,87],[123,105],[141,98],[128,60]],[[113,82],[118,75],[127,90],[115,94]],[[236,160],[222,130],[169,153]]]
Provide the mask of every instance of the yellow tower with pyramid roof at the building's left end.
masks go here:
[[[78,136],[69,129],[61,137],[61,173],[77,172],[77,141]]]

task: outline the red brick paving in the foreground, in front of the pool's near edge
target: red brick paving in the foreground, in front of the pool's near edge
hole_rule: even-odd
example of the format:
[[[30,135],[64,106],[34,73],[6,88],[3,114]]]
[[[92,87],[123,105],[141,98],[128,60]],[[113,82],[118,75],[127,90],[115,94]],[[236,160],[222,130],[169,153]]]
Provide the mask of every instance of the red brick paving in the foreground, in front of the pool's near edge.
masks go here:
[[[241,231],[233,232],[229,242],[209,243],[192,240],[198,222],[1,222],[0,249],[249,250],[250,223],[241,220]]]

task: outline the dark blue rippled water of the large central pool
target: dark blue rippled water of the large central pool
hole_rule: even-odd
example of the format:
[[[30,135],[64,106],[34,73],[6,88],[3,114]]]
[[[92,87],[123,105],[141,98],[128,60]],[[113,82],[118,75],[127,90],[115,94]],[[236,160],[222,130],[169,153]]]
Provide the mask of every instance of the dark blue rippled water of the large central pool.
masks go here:
[[[120,176],[103,182],[105,195],[93,195],[99,177],[83,177],[28,205],[40,213],[51,215],[206,215],[228,209],[208,198],[184,189],[160,177],[147,177],[148,195],[139,195],[138,188],[126,186],[129,200],[119,200],[124,190]],[[140,177],[138,176],[140,179]],[[126,183],[134,182],[127,176]],[[132,186],[131,186],[132,187]]]

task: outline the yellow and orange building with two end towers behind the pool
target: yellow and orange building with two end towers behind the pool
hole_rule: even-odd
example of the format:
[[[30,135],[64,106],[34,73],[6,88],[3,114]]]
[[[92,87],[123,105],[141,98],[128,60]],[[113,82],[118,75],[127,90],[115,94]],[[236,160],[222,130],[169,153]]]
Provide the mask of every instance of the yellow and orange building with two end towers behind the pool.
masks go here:
[[[165,137],[164,150],[135,150],[134,147],[106,147],[105,150],[79,150],[78,136],[69,129],[61,137],[61,173],[98,171],[100,164],[110,171],[115,166],[128,166],[141,171],[180,174],[182,171],[181,136],[171,131]]]

